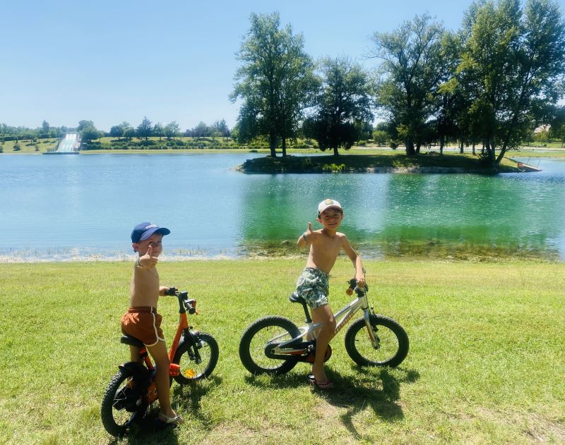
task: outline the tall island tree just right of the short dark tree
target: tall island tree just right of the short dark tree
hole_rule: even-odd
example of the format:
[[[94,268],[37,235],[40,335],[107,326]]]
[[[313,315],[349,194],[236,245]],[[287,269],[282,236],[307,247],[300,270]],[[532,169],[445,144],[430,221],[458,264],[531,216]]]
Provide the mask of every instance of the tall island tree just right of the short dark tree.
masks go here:
[[[371,56],[382,60],[377,100],[388,120],[398,127],[409,155],[420,149],[446,71],[446,60],[441,57],[443,35],[444,28],[424,14],[393,32],[375,32],[372,37]]]

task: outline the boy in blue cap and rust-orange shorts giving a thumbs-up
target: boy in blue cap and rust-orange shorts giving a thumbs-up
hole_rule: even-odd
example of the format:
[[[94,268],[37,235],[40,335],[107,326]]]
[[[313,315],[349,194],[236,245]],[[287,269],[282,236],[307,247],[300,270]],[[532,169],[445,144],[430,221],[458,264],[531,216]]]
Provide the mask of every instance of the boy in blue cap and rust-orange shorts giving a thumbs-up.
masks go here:
[[[168,228],[144,222],[131,232],[131,246],[138,252],[129,287],[129,310],[121,317],[121,331],[143,341],[157,365],[155,385],[159,397],[159,420],[166,424],[182,422],[182,417],[171,408],[169,388],[169,355],[161,329],[162,317],[157,314],[157,300],[169,288],[159,286],[157,257],[162,252],[163,236],[171,233]],[[139,350],[130,346],[131,360],[140,360]]]

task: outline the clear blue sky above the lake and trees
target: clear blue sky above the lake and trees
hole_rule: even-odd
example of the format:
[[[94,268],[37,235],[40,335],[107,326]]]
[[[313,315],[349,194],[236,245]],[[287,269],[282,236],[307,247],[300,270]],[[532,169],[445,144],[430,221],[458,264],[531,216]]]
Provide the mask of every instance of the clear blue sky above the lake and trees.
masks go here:
[[[93,121],[101,130],[177,121],[182,130],[224,118],[235,53],[249,15],[279,11],[283,25],[304,35],[321,56],[364,58],[376,31],[429,12],[451,30],[469,1],[390,0],[98,0],[4,1],[0,41],[0,123],[35,128]]]

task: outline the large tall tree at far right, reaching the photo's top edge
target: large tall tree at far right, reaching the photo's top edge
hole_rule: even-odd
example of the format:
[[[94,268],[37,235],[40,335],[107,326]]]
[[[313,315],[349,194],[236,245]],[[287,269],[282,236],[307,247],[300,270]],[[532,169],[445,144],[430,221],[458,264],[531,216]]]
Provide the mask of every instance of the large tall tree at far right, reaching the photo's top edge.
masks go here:
[[[528,0],[523,10],[517,0],[474,8],[458,82],[470,98],[470,119],[482,135],[485,158],[497,166],[562,95],[565,25],[550,0]]]

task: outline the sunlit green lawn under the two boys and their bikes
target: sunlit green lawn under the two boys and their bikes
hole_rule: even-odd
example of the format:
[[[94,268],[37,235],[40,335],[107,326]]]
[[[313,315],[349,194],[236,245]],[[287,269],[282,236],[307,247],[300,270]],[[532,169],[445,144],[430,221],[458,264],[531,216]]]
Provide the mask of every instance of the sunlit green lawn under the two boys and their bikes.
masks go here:
[[[9,444],[531,444],[565,442],[565,264],[367,261],[369,300],[403,324],[397,369],[361,369],[332,342],[334,391],[312,391],[307,365],[252,377],[239,337],[254,319],[286,315],[304,259],[161,262],[162,284],[188,288],[190,317],[220,344],[202,384],[172,388],[186,423],[145,426],[114,441],[100,400],[128,358],[119,339],[131,264],[1,264],[0,443]],[[352,275],[340,257],[335,309]],[[170,343],[174,299],[160,312]],[[347,329],[347,327],[346,327]],[[153,411],[154,413],[155,411]]]

